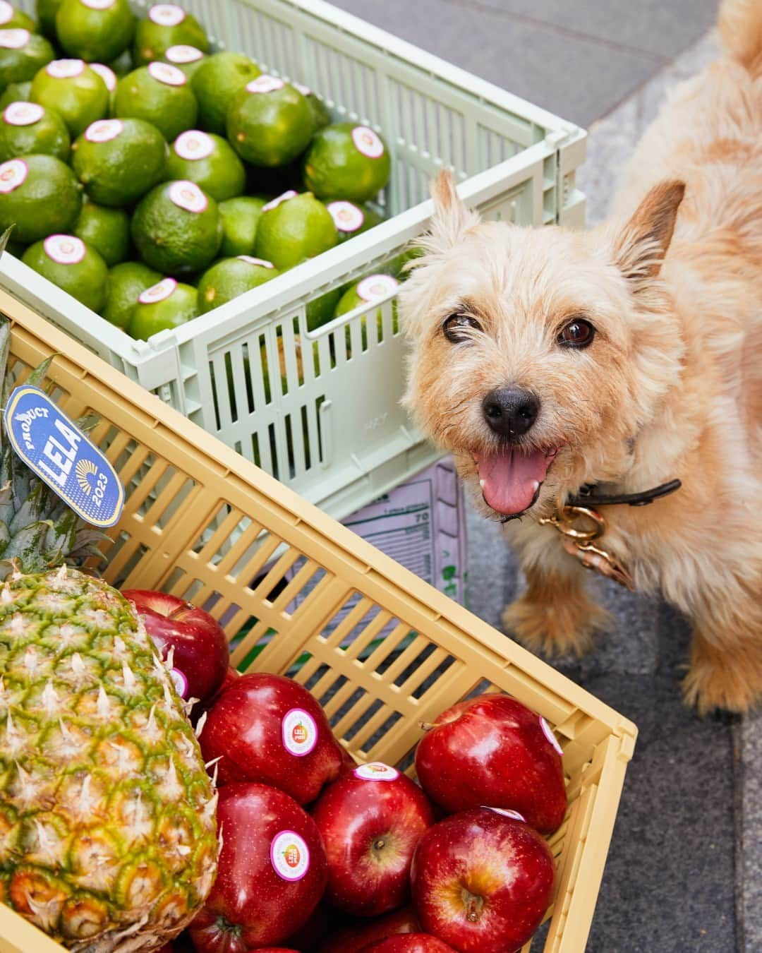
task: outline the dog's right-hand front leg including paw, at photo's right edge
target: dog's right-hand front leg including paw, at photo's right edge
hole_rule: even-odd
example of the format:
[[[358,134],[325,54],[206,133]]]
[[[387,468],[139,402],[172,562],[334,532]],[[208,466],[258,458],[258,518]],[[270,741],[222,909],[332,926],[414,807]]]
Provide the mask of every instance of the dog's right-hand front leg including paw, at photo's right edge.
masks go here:
[[[693,616],[691,664],[683,681],[700,715],[746,712],[762,700],[762,597],[717,598]]]

